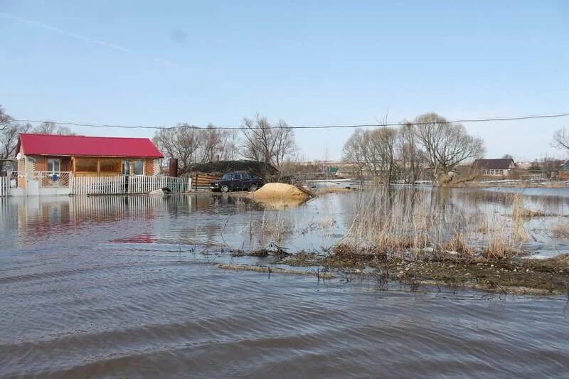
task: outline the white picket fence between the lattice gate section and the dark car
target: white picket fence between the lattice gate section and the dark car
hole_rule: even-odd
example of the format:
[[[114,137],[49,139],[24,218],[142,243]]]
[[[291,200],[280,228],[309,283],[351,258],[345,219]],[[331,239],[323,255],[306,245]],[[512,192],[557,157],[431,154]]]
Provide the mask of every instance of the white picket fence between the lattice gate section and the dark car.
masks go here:
[[[168,187],[174,193],[188,191],[188,178],[171,176],[72,176],[73,195],[119,195],[149,193]]]

